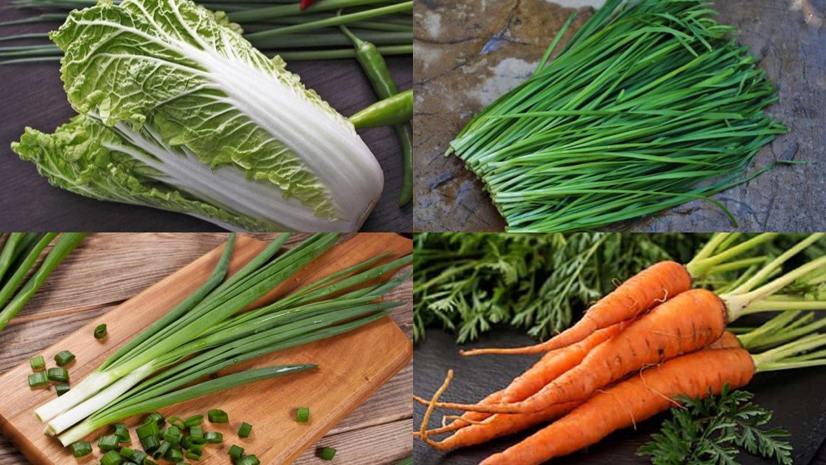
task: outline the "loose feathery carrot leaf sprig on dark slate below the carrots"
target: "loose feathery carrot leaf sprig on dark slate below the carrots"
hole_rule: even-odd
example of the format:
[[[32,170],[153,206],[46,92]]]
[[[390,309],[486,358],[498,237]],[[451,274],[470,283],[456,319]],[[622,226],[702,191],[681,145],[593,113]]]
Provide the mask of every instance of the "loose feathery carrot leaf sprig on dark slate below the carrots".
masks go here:
[[[681,396],[681,407],[659,433],[638,450],[656,465],[734,465],[742,449],[782,465],[794,463],[785,429],[769,428],[771,412],[751,402],[747,391],[729,391],[705,399]]]

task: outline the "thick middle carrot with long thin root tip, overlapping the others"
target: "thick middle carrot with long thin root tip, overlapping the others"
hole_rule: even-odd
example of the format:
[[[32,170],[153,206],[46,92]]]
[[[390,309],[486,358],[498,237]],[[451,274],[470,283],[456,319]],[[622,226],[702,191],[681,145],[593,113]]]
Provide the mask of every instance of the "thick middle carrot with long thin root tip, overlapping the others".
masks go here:
[[[440,408],[488,413],[534,413],[555,404],[582,401],[629,373],[700,350],[723,335],[726,309],[714,292],[682,292],[600,344],[577,367],[525,401],[478,406],[440,402]]]

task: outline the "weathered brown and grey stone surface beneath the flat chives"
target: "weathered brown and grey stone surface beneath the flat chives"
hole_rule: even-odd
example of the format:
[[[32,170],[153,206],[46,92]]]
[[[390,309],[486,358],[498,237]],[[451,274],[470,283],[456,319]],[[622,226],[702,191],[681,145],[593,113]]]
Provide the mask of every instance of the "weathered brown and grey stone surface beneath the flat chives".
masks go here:
[[[505,226],[472,173],[445,149],[471,117],[525,81],[548,43],[578,7],[565,39],[597,0],[422,0],[414,10],[416,107],[415,227],[423,231],[502,230]],[[801,11],[797,5],[805,6]],[[739,230],[826,230],[826,27],[805,23],[826,0],[717,0],[719,20],[738,27],[738,40],[762,59],[780,86],[769,113],[789,127],[757,154],[755,166],[805,160],[720,193]],[[814,17],[813,17],[814,18]],[[563,40],[563,41],[564,41]],[[689,202],[622,225],[636,231],[721,231],[733,225],[709,202]]]

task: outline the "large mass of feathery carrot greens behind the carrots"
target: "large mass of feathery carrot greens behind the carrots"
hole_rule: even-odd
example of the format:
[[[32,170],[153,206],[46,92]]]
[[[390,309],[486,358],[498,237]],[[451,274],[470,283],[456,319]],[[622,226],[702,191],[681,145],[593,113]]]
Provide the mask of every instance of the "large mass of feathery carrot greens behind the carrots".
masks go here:
[[[621,282],[662,259],[686,263],[705,235],[482,234],[415,236],[414,336],[428,326],[477,339],[494,324],[546,339]]]

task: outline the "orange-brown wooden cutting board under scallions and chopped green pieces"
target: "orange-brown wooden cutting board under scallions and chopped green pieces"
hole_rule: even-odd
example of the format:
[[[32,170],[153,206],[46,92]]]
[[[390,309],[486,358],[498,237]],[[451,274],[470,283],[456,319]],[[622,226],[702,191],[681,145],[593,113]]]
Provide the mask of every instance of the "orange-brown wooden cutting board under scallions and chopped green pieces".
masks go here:
[[[262,241],[238,236],[230,261],[230,273],[241,268],[265,246]],[[47,367],[55,366],[55,353],[70,350],[77,358],[67,368],[70,379],[78,382],[118,347],[206,281],[223,247],[213,249],[45,349],[43,355]],[[356,235],[321,255],[295,277],[256,302],[255,306],[274,301],[303,284],[377,254],[391,252],[392,255],[385,260],[389,261],[411,251],[411,240],[399,235]],[[93,329],[102,323],[107,324],[108,335],[103,342],[99,342],[93,337]],[[227,463],[226,452],[232,444],[238,444],[247,453],[256,454],[262,463],[290,463],[403,368],[412,358],[412,349],[411,340],[396,324],[390,318],[382,318],[344,335],[255,358],[218,374],[282,363],[317,363],[319,368],[316,370],[235,387],[160,411],[167,417],[178,415],[183,418],[206,415],[211,408],[227,411],[229,424],[212,425],[205,420],[204,429],[223,433],[224,442],[204,448],[202,463]],[[26,383],[30,373],[31,368],[26,362],[0,377],[3,396],[0,402],[0,433],[10,439],[32,463],[97,463],[101,455],[97,447],[94,447],[93,454],[78,461],[68,449],[61,448],[59,442],[43,434],[44,425],[36,420],[32,411],[52,399],[55,391],[51,387],[30,389]],[[309,422],[300,424],[295,421],[295,409],[299,406],[310,407]],[[237,435],[242,421],[254,425],[253,433],[247,439],[240,439]],[[126,420],[126,425],[133,428],[139,422],[140,417],[135,417]],[[111,434],[111,430],[100,429],[86,440],[96,443],[102,434]],[[140,444],[134,431],[132,444]]]

